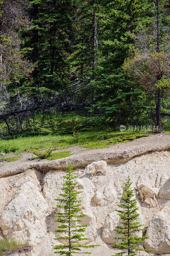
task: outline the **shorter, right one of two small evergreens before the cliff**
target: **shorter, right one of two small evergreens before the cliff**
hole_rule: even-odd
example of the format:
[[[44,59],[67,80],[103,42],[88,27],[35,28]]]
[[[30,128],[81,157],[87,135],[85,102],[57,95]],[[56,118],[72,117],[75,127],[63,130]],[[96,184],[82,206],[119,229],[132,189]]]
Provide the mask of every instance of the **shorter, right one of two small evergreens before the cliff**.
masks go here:
[[[128,255],[134,256],[137,255],[136,251],[151,251],[146,250],[143,248],[140,248],[138,244],[142,243],[147,236],[138,237],[134,236],[135,232],[146,230],[146,228],[141,228],[140,222],[137,221],[138,216],[140,215],[137,213],[137,210],[139,209],[137,207],[137,199],[133,199],[134,197],[134,189],[131,188],[132,182],[130,181],[130,178],[128,176],[128,179],[126,180],[126,183],[124,183],[123,188],[123,196],[122,196],[122,204],[118,204],[119,208],[121,210],[115,210],[118,212],[118,215],[121,217],[122,222],[120,222],[122,225],[117,226],[115,228],[115,231],[118,234],[123,234],[123,237],[114,237],[117,240],[122,240],[122,243],[115,244],[112,246],[112,248],[117,248],[120,250],[128,250]],[[115,255],[123,255],[127,252],[119,252]]]

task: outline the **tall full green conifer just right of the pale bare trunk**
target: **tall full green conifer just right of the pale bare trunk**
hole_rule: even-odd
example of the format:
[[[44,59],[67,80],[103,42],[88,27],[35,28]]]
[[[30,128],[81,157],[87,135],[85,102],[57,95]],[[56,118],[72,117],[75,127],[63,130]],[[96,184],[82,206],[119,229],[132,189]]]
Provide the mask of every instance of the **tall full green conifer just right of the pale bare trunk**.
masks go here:
[[[106,110],[103,120],[110,124],[139,124],[146,109],[145,95],[135,83],[125,80],[122,64],[128,57],[139,22],[148,15],[147,1],[101,0],[102,18],[98,36],[100,60],[97,79],[90,86],[95,91],[96,107]]]

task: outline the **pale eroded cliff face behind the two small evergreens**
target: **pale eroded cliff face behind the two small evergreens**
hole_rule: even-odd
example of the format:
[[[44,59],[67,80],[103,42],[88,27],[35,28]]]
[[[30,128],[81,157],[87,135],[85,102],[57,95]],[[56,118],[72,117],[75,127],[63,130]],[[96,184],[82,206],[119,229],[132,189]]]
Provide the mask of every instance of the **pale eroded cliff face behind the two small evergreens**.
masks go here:
[[[61,168],[62,169],[62,168]],[[107,174],[98,173],[91,179],[85,168],[76,169],[77,189],[82,202],[82,213],[87,216],[82,224],[88,225],[85,244],[101,244],[92,248],[92,256],[113,255],[116,250],[110,246],[117,243],[113,236],[120,219],[115,209],[122,196],[122,184],[129,175],[135,183],[145,183],[157,188],[158,206],[149,208],[147,199],[142,204],[136,193],[139,207],[139,221],[148,227],[144,244],[154,249],[152,254],[170,253],[170,151],[154,152],[135,157],[127,163],[107,164]],[[35,169],[0,179],[0,236],[28,240],[32,255],[54,255],[53,246],[59,244],[60,234],[54,232],[56,201],[62,193],[63,170],[50,170],[46,174]],[[142,236],[142,233],[136,234]],[[147,253],[139,253],[147,254]],[[150,255],[152,255],[150,254]],[[148,253],[149,255],[149,253]],[[170,254],[169,254],[170,255]]]

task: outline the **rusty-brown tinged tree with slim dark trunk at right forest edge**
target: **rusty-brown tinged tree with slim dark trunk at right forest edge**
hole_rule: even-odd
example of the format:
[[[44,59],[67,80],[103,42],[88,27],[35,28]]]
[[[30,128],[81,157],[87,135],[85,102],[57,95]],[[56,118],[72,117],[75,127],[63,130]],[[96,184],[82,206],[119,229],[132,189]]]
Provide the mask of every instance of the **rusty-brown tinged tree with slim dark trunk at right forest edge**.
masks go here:
[[[155,95],[156,120],[161,131],[161,94],[170,90],[170,12],[167,0],[151,4],[152,17],[149,24],[141,26],[135,38],[134,51],[123,65],[128,79],[142,86],[143,90]],[[167,94],[168,95],[168,94]]]

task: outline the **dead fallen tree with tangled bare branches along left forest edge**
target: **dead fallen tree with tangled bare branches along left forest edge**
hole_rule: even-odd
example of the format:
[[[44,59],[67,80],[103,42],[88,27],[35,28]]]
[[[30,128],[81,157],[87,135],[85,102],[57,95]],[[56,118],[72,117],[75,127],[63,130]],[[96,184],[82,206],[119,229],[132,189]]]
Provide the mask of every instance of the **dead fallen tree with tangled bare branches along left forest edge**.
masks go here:
[[[93,104],[74,103],[72,98],[62,94],[48,94],[44,97],[41,93],[38,96],[19,95],[10,100],[10,97],[0,101],[0,135],[18,134],[20,131],[32,130],[37,122],[43,128],[48,116],[52,119],[58,113],[89,113],[86,108]],[[100,113],[100,110],[97,110]],[[36,117],[36,118],[35,118]],[[38,121],[37,121],[38,120]]]

